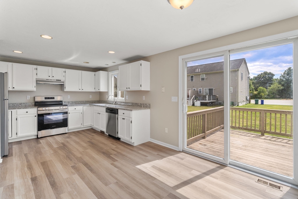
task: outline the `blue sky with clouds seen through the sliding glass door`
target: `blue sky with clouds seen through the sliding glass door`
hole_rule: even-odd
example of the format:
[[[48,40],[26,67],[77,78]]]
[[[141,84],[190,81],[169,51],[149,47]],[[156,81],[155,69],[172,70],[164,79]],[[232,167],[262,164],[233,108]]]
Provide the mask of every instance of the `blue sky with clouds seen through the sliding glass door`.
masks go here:
[[[230,55],[230,60],[245,58],[250,76],[256,76],[264,71],[276,74],[278,78],[288,67],[293,67],[293,45],[286,44],[251,50]],[[223,62],[224,56],[188,62],[187,66],[201,65],[213,62]]]

